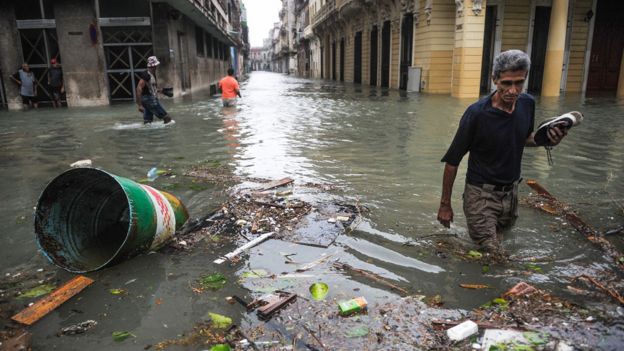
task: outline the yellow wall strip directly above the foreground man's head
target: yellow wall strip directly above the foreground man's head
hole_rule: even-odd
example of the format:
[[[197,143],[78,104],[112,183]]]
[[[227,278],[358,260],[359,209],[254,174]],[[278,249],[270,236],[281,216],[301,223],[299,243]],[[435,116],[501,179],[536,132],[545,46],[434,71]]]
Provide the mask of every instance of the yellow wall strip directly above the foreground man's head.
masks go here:
[[[505,1],[501,51],[527,50],[529,43],[530,0]]]

